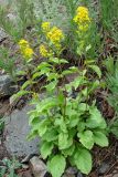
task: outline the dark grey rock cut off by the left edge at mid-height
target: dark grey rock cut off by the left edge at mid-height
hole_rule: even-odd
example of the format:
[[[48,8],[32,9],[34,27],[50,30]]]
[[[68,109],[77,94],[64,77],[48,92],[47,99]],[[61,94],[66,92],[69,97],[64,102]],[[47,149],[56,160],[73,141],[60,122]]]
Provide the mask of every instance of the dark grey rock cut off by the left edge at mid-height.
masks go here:
[[[0,75],[0,97],[10,96],[14,91],[12,79],[9,75]]]

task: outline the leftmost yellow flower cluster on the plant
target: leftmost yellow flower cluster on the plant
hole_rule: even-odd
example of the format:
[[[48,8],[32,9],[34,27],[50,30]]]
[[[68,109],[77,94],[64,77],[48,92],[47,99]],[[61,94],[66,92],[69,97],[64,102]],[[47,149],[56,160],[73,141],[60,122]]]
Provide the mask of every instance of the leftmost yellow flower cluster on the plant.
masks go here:
[[[22,55],[25,58],[25,59],[31,59],[32,55],[33,55],[33,50],[30,48],[30,44],[28,41],[25,40],[20,40],[19,42],[19,46],[20,46],[20,50],[21,50],[21,53]]]

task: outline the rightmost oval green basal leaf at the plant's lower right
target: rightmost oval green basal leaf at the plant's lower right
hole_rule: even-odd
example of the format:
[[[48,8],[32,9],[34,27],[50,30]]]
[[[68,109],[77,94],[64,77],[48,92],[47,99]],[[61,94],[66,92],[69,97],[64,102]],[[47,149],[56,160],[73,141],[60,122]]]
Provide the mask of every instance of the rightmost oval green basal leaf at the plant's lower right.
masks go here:
[[[101,146],[101,147],[106,147],[108,146],[108,138],[107,136],[101,133],[101,132],[94,132],[94,140],[97,145]]]

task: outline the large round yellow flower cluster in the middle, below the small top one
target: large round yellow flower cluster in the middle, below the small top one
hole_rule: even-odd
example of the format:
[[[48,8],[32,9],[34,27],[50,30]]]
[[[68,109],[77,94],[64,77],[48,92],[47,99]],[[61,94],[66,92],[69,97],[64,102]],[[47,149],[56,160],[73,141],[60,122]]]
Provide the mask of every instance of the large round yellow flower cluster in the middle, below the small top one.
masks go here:
[[[61,40],[64,38],[64,34],[61,29],[57,27],[53,27],[46,34],[47,39],[53,43],[60,43]]]

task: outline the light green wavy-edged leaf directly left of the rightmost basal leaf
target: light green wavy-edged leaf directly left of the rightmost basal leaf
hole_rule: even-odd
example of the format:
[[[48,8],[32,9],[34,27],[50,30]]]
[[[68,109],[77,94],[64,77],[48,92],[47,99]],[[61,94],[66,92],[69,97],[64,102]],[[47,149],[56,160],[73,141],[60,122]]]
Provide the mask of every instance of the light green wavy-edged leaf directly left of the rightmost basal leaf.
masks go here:
[[[85,131],[83,133],[78,133],[79,142],[88,149],[92,149],[94,146],[94,137],[92,131]]]

